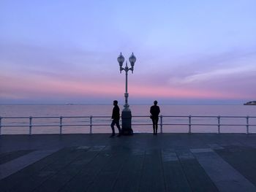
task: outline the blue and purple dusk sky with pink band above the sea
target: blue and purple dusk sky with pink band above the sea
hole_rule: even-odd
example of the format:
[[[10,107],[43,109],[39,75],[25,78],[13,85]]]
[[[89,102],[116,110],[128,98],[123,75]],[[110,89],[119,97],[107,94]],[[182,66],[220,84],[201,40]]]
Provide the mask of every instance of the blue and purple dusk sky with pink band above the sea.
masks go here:
[[[0,104],[256,100],[255,0],[1,0]]]

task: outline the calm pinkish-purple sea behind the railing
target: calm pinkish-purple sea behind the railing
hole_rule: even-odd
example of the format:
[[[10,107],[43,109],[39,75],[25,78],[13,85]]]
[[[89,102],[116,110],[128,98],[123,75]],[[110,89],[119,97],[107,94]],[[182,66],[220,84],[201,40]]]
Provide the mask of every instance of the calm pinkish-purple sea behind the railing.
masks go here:
[[[123,106],[119,105],[120,109]],[[130,105],[135,133],[151,133],[151,105]],[[256,133],[256,106],[249,105],[159,105],[163,133]],[[88,134],[110,133],[113,105],[20,104],[0,105],[1,134]],[[62,126],[60,127],[60,117]],[[194,117],[197,116],[197,117]],[[200,117],[204,116],[204,117]],[[206,117],[207,116],[207,117]],[[220,116],[219,122],[217,116]],[[249,119],[247,120],[247,116]],[[77,117],[77,118],[75,118]],[[247,125],[247,121],[249,126]],[[121,122],[120,122],[121,123]],[[159,120],[160,123],[160,120]],[[218,126],[220,125],[220,126]],[[160,126],[159,126],[160,131]]]

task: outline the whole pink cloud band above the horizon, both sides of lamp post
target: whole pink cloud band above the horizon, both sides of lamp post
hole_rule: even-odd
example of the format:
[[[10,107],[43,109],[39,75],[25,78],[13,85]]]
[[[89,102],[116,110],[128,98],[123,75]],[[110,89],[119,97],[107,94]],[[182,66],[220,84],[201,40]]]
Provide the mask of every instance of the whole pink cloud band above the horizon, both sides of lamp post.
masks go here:
[[[61,78],[62,79],[62,78]],[[1,75],[1,98],[61,98],[123,96],[124,82],[59,80],[53,77]],[[175,87],[173,85],[139,85],[132,82],[128,90],[134,98],[158,97],[166,99],[246,99],[242,93],[217,89]]]

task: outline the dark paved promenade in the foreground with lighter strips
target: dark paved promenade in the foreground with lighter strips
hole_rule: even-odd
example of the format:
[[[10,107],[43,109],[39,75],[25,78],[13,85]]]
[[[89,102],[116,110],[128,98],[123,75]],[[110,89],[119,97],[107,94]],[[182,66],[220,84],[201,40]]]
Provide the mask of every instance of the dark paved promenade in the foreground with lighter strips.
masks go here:
[[[256,134],[0,136],[0,191],[256,191]]]

